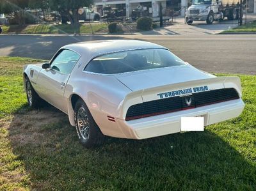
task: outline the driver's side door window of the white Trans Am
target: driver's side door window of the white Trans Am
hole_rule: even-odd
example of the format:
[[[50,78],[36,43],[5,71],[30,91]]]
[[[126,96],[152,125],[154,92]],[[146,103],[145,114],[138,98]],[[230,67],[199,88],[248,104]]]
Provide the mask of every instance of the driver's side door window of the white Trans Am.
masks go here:
[[[79,57],[79,54],[72,50],[60,50],[51,62],[51,68],[61,73],[70,74]]]

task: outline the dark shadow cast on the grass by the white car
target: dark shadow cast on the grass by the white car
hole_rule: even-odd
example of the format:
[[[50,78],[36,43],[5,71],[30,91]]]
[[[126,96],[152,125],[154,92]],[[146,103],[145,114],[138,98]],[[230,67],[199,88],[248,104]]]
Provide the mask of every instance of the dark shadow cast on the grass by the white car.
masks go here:
[[[255,188],[255,166],[207,129],[141,141],[109,137],[86,149],[67,116],[47,106],[15,114],[8,131],[35,190]]]

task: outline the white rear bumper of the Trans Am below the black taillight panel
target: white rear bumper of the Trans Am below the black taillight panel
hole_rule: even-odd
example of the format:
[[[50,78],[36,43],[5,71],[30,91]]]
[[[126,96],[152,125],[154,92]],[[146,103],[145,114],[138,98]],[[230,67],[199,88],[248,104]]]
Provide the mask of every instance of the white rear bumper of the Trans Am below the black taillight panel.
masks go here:
[[[244,109],[241,98],[216,103],[186,111],[172,112],[159,116],[124,121],[117,119],[118,127],[127,139],[147,139],[180,132],[180,118],[204,116],[204,125],[211,125],[227,119],[236,118]]]

